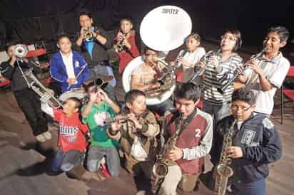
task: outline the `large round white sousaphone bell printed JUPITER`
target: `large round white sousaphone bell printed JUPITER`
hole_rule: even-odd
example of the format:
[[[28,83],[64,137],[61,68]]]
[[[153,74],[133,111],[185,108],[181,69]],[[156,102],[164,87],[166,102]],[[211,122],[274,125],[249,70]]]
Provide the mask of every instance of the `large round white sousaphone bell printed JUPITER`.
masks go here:
[[[178,48],[191,31],[190,16],[177,6],[153,9],[143,18],[140,26],[143,43],[156,51]]]

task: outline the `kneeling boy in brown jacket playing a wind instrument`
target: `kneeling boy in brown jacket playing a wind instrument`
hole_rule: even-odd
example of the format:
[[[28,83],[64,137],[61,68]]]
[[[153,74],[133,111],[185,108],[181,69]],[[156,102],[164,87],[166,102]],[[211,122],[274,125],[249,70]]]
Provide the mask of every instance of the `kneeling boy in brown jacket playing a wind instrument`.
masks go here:
[[[160,127],[155,115],[146,110],[146,95],[141,90],[130,90],[125,101],[128,120],[112,122],[108,136],[120,139],[126,170],[132,174],[143,172],[151,179],[156,157],[156,135]]]

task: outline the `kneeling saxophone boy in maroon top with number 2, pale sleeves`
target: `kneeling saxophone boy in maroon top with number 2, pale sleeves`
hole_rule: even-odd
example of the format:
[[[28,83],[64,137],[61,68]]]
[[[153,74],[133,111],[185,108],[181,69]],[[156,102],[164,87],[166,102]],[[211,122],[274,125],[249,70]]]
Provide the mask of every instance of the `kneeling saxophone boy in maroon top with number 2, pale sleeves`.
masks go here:
[[[200,95],[199,87],[193,83],[183,83],[176,89],[177,111],[166,116],[163,132],[166,145],[163,160],[159,159],[159,163],[168,162],[168,173],[158,194],[176,195],[177,186],[183,191],[193,191],[203,171],[204,157],[211,150],[213,120],[196,107]]]

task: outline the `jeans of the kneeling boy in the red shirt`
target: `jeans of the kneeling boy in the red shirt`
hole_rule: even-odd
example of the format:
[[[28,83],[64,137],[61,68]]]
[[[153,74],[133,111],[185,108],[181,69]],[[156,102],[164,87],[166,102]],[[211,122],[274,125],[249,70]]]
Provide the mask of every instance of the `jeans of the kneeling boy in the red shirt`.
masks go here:
[[[83,152],[77,150],[63,152],[58,149],[51,164],[51,169],[54,172],[69,172],[69,170],[83,163],[84,156]]]

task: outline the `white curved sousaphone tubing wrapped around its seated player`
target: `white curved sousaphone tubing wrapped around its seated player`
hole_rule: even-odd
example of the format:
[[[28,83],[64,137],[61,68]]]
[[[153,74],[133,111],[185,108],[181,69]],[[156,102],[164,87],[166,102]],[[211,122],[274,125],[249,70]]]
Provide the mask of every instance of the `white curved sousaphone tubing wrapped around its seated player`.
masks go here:
[[[123,71],[123,89],[125,92],[128,92],[131,90],[131,75],[133,70],[138,68],[139,65],[143,64],[143,57],[138,56],[137,58],[134,58],[131,60],[130,63],[126,66],[126,69]],[[170,89],[166,90],[165,93],[158,95],[156,97],[147,97],[146,98],[146,104],[147,105],[158,105],[161,102],[164,102],[168,99],[168,97],[171,97],[173,91],[175,90],[176,85],[172,85]]]

